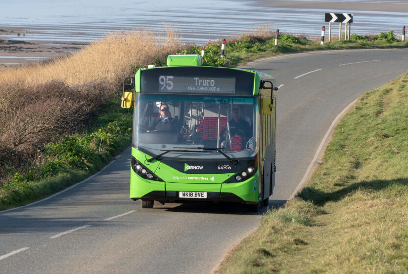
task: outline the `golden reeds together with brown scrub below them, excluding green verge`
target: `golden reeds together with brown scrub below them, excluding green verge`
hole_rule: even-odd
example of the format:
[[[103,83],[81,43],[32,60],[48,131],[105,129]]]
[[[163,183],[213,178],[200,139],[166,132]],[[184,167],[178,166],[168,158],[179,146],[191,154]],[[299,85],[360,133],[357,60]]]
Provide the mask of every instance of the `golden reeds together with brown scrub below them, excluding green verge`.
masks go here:
[[[22,158],[57,134],[75,131],[117,96],[132,69],[182,47],[168,25],[158,32],[123,30],[62,58],[0,70],[0,173],[26,163]]]

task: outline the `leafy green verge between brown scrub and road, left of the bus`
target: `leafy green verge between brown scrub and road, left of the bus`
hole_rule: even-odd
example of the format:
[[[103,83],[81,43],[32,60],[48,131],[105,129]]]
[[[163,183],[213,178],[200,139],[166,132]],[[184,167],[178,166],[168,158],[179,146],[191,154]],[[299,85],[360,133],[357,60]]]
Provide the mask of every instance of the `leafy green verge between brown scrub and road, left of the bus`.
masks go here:
[[[0,210],[43,198],[79,182],[130,145],[132,112],[119,110],[119,103],[116,99],[107,106],[90,133],[60,136],[45,145],[38,154],[38,163],[22,174],[7,167],[5,172],[12,179],[0,192]]]

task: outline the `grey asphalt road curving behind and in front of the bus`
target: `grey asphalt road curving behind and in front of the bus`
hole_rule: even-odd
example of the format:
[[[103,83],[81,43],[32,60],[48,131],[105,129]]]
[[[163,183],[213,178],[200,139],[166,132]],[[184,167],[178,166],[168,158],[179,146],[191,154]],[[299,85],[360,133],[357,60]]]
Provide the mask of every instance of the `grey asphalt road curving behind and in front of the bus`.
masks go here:
[[[408,51],[346,50],[264,58],[242,68],[277,79],[277,175],[270,206],[297,189],[333,120],[408,69]],[[210,273],[259,226],[230,206],[128,198],[130,149],[89,180],[0,213],[1,273]],[[313,165],[313,164],[312,164]]]

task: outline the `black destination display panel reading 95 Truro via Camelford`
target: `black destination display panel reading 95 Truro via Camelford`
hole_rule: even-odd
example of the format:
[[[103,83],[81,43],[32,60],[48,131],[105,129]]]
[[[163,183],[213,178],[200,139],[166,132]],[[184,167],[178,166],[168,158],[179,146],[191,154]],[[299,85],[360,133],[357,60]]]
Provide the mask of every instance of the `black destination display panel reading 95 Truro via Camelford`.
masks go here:
[[[165,67],[141,71],[142,93],[253,95],[254,73],[214,67]]]

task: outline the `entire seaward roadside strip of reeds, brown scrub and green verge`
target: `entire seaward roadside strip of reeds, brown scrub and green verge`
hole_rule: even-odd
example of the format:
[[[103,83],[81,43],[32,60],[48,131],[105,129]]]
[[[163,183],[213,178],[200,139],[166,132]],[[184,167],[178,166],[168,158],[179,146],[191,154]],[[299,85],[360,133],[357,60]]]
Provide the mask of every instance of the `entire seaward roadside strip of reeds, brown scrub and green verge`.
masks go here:
[[[224,58],[220,41],[209,44],[204,65],[232,67],[299,51],[408,47],[392,31],[376,39],[352,35],[358,41],[334,37],[325,45],[282,34],[275,46],[274,36],[271,26],[262,26],[227,40]],[[158,38],[144,30],[117,32],[52,62],[0,70],[0,210],[76,183],[119,153],[130,143],[132,116],[113,99],[123,78],[147,64],[163,66],[175,53],[201,54],[201,47],[180,44],[168,26]]]

